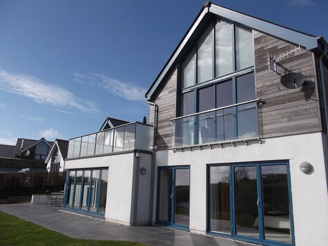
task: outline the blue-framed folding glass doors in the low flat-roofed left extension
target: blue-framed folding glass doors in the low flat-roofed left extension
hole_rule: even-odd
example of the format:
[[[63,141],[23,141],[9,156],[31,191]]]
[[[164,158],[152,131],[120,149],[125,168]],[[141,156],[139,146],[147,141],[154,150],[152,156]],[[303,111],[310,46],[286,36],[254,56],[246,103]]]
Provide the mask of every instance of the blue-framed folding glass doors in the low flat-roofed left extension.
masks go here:
[[[104,215],[107,184],[108,169],[69,171],[66,180],[65,209]]]

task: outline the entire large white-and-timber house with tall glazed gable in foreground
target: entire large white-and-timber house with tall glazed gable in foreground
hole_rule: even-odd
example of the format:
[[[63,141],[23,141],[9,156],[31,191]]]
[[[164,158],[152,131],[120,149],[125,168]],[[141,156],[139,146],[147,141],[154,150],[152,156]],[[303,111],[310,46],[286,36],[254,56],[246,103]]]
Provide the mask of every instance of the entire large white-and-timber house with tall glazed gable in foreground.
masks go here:
[[[327,47],[207,1],[146,93],[154,129],[130,122],[69,140],[64,208],[325,245]]]

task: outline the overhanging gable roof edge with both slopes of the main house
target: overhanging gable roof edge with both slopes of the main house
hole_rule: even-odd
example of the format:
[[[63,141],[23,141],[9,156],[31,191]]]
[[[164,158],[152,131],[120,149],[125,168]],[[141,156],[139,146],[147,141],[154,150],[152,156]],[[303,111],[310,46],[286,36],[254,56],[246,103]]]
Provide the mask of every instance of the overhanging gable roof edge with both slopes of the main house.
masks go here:
[[[238,11],[228,9],[226,7],[213,4],[210,1],[206,1],[204,3],[204,6],[198,13],[197,17],[195,18],[194,22],[187,30],[186,34],[182,37],[178,46],[173,51],[169,60],[164,65],[164,67],[146,92],[145,97],[148,100],[152,99],[155,92],[160,87],[163,80],[166,78],[166,75],[171,71],[173,67],[176,66],[179,59],[186,55],[186,50],[189,50],[191,44],[196,42],[196,38],[199,36],[204,26],[208,24],[209,19],[211,19],[213,15],[221,19],[226,19],[229,22],[237,24],[239,26],[255,29],[257,31],[281,38],[288,42],[298,44],[302,47],[305,47],[306,50],[313,50],[319,48],[321,51],[323,51],[323,48],[318,43],[318,39],[321,37],[316,37],[311,34],[296,31],[294,29],[284,27],[269,22],[267,20],[263,20],[248,14],[244,14]]]

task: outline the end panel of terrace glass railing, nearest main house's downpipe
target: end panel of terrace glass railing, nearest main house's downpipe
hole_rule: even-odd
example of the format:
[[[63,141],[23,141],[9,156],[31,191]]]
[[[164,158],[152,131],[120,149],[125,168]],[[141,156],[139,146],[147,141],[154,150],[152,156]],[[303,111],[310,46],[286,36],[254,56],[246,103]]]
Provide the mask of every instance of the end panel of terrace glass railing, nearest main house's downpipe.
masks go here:
[[[136,124],[134,148],[138,150],[152,150],[152,127]]]

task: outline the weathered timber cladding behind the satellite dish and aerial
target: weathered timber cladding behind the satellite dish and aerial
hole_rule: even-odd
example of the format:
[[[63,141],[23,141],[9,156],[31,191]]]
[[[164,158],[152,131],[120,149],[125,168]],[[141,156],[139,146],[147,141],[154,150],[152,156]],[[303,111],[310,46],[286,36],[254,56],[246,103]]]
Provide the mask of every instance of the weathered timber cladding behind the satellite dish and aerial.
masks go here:
[[[256,93],[257,98],[263,100],[258,106],[259,135],[262,138],[322,130],[312,52],[301,47],[297,53],[278,61],[277,74],[268,69],[268,52],[277,55],[294,48],[295,44],[254,31]],[[289,72],[303,74],[303,86],[285,88],[280,79]]]

